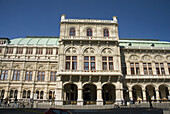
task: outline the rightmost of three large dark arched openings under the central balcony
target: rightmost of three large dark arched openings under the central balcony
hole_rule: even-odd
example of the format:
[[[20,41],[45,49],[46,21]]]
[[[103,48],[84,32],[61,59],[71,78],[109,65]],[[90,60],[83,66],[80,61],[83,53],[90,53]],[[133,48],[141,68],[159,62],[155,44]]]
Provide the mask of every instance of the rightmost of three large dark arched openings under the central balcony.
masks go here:
[[[115,86],[112,84],[105,84],[102,87],[102,98],[104,104],[113,104],[115,102]]]

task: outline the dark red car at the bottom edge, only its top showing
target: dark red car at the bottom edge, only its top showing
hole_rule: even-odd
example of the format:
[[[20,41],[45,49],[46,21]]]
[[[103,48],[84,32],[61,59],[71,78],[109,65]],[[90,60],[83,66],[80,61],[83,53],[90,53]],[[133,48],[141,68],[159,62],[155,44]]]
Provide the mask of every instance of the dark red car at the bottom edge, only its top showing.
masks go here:
[[[49,108],[44,114],[71,114],[71,112],[66,109]]]

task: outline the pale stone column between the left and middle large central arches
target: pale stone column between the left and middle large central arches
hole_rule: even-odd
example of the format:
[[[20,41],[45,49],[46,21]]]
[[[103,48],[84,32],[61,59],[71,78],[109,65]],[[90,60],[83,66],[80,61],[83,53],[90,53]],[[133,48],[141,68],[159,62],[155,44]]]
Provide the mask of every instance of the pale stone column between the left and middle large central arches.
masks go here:
[[[78,99],[77,99],[77,105],[83,105],[83,88],[82,88],[82,82],[78,83]]]

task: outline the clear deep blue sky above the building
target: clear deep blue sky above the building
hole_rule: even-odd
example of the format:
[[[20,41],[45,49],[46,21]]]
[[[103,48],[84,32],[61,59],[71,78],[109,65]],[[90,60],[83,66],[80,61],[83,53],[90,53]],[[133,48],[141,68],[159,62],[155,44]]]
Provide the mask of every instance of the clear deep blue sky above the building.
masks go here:
[[[117,16],[120,38],[170,41],[170,0],[0,0],[0,37],[59,36],[62,14]]]

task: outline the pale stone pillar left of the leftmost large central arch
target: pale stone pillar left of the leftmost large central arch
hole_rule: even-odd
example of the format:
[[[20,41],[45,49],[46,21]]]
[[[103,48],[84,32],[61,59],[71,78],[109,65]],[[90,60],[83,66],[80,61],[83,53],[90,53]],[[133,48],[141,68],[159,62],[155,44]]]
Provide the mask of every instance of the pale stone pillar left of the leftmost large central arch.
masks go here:
[[[55,104],[63,105],[63,82],[61,81],[61,76],[57,76],[56,80]]]

